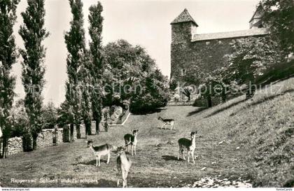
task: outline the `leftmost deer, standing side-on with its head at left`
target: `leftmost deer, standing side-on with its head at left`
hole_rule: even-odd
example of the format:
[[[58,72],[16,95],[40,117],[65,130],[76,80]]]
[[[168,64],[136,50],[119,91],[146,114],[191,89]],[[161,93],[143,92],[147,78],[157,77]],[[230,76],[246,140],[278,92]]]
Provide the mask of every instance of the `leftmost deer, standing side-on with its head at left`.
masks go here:
[[[107,155],[107,162],[106,164],[109,164],[110,160],[110,153],[111,150],[113,149],[113,146],[109,144],[104,144],[102,146],[93,146],[92,145],[93,140],[87,141],[87,146],[90,147],[90,149],[93,151],[94,155],[96,156],[96,167],[100,167],[100,157]]]

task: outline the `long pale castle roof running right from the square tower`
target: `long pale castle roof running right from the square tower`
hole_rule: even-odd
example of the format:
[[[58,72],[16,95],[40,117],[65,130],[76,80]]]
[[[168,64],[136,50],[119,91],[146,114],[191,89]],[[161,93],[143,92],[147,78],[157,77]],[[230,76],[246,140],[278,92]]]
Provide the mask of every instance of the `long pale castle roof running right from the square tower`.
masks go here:
[[[210,33],[210,34],[195,34],[192,38],[192,42],[209,41],[209,40],[223,39],[223,38],[261,36],[265,34],[268,34],[268,30],[265,28],[247,29],[247,30],[241,30],[241,31],[218,32],[218,33]]]

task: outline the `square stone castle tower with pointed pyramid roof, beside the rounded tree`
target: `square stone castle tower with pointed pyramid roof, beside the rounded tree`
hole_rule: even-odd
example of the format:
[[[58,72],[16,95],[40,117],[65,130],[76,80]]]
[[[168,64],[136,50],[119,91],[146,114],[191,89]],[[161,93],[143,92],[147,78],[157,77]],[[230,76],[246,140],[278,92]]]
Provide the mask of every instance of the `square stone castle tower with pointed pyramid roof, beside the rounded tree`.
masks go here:
[[[198,24],[185,8],[183,12],[174,19],[172,25],[172,47],[171,47],[171,79],[182,81],[186,75],[186,68],[182,66],[183,60],[190,45],[193,35],[196,34]],[[183,79],[183,81],[185,81]]]

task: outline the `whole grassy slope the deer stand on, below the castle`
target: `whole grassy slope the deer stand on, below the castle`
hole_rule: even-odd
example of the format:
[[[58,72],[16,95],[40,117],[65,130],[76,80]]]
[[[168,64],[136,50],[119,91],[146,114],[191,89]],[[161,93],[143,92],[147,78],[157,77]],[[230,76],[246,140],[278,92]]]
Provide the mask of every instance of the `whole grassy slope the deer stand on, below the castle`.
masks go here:
[[[216,177],[214,186],[290,186],[294,180],[294,78],[256,92],[252,100],[237,97],[214,108],[169,106],[158,113],[131,115],[125,127],[91,136],[97,145],[123,145],[123,135],[139,129],[137,156],[128,178],[130,187],[195,187],[205,178]],[[157,120],[174,118],[176,130],[159,129]],[[176,159],[177,140],[197,130],[196,164]],[[220,143],[221,142],[221,143]],[[60,146],[19,153],[0,160],[0,182],[6,186],[116,187],[116,154],[110,164],[95,167],[85,139]],[[205,167],[205,168],[204,168]],[[34,179],[36,183],[11,183],[10,178]],[[39,178],[58,178],[41,183]],[[61,183],[62,178],[94,179],[97,183]]]

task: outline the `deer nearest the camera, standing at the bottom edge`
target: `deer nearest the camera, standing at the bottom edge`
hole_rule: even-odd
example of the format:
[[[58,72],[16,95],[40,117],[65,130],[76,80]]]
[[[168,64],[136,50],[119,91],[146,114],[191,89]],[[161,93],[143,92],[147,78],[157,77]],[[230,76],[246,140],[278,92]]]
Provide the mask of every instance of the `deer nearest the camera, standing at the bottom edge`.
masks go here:
[[[118,177],[120,173],[123,176],[123,188],[127,187],[127,175],[129,174],[130,167],[132,166],[132,161],[125,155],[125,148],[118,148],[118,159],[116,160],[118,164]],[[120,178],[118,178],[118,186],[120,185]]]

